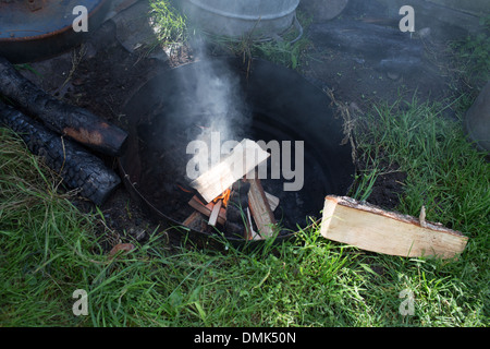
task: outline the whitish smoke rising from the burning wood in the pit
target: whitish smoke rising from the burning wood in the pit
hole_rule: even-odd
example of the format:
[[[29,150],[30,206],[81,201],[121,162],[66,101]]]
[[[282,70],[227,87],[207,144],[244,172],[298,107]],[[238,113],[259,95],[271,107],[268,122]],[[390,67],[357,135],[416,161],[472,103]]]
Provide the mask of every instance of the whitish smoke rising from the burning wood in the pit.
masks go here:
[[[170,132],[166,139],[175,139],[177,129],[186,130],[182,157],[186,164],[177,166],[187,168],[186,177],[192,180],[221,161],[232,145],[242,141],[252,117],[240,75],[226,61],[209,57],[203,41],[195,40],[191,46],[196,63],[177,68],[180,92],[174,94],[173,110],[167,116],[172,125],[167,128]]]

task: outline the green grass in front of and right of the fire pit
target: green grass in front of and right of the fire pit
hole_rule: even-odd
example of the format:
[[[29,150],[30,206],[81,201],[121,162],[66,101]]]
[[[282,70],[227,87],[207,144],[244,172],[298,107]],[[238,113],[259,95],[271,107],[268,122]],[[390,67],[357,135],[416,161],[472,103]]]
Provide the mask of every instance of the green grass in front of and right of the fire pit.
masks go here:
[[[110,258],[97,239],[101,217],[81,214],[2,130],[0,326],[488,326],[489,165],[436,107],[378,106],[360,145],[373,167],[383,149],[407,171],[402,212],[425,203],[428,219],[469,236],[449,263],[366,253],[318,227],[246,253],[170,251],[155,231]],[[88,316],[72,313],[75,289],[88,292]],[[400,312],[404,290],[414,315]]]

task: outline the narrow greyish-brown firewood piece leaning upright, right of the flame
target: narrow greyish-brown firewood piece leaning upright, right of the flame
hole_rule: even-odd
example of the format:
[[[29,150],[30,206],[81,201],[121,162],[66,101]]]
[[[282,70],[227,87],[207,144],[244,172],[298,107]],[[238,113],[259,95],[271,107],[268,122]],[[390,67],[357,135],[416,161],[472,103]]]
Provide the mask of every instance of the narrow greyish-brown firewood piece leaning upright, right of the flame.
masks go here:
[[[257,230],[262,238],[273,234],[275,218],[266,198],[262,184],[259,179],[248,179],[250,190],[248,191],[248,207],[254,217]]]

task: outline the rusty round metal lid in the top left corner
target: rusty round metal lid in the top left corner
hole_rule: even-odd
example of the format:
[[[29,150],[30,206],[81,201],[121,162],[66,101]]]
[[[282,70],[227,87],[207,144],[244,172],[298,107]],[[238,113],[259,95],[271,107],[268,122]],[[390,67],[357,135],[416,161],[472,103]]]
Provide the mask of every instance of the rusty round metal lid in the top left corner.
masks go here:
[[[103,21],[110,0],[0,0],[0,56],[13,63],[59,55],[81,44]],[[73,21],[87,9],[88,32]]]

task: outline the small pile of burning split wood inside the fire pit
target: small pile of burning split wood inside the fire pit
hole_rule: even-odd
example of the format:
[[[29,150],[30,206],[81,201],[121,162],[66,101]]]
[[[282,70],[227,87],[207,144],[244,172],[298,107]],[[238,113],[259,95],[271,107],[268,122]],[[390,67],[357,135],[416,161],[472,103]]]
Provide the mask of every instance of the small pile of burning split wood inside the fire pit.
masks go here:
[[[224,160],[191,183],[208,204],[197,196],[188,204],[209,217],[209,226],[222,225],[228,236],[246,239],[272,236],[275,226],[272,212],[279,197],[266,193],[259,179],[245,179],[268,157],[257,143],[243,140]],[[189,217],[187,224],[194,218]]]

